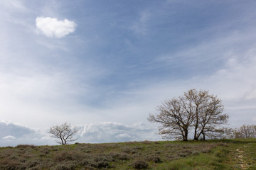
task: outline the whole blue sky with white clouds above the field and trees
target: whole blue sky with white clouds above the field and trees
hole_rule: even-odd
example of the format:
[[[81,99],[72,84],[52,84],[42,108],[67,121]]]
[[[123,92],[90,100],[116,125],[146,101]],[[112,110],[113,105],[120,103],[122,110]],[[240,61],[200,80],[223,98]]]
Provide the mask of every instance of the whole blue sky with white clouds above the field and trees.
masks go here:
[[[256,1],[1,0],[0,146],[161,140],[149,113],[189,89],[256,124]]]

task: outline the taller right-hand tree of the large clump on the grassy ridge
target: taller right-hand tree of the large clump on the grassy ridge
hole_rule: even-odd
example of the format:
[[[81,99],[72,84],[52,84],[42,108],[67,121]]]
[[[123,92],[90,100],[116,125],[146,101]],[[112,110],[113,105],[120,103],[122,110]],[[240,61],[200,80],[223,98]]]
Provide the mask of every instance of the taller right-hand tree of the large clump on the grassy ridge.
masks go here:
[[[206,140],[206,136],[218,136],[218,132],[222,132],[220,125],[228,122],[228,115],[223,113],[222,101],[217,96],[210,95],[208,91],[196,89],[185,92],[184,96],[186,100],[191,101],[195,115],[193,140],[198,140],[201,135],[203,140]]]

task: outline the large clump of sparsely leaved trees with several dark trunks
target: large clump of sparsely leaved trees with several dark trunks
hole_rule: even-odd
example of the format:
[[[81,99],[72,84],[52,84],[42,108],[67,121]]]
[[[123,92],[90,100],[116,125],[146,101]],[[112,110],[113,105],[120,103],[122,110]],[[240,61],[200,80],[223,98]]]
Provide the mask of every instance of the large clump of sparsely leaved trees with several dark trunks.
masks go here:
[[[193,140],[202,137],[216,137],[222,132],[221,125],[228,122],[223,113],[222,101],[208,94],[208,91],[191,89],[183,96],[165,101],[158,106],[156,115],[149,115],[149,121],[159,123],[159,134],[164,137],[181,137],[188,140],[193,130]]]

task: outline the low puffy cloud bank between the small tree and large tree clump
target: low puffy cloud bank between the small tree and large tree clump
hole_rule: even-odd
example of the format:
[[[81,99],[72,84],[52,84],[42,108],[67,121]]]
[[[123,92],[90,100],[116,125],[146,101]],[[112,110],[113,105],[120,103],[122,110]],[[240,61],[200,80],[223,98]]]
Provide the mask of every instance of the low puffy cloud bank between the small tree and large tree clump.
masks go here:
[[[161,140],[156,135],[155,125],[135,123],[124,125],[122,123],[103,122],[80,125],[80,141],[83,142],[127,142],[142,140]]]

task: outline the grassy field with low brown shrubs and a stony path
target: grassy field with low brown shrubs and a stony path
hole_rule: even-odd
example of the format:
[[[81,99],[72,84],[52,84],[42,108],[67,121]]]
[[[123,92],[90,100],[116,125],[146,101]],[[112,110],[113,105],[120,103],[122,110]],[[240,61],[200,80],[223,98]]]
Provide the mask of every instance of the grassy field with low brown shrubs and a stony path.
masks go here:
[[[0,148],[0,169],[256,169],[256,139]]]

